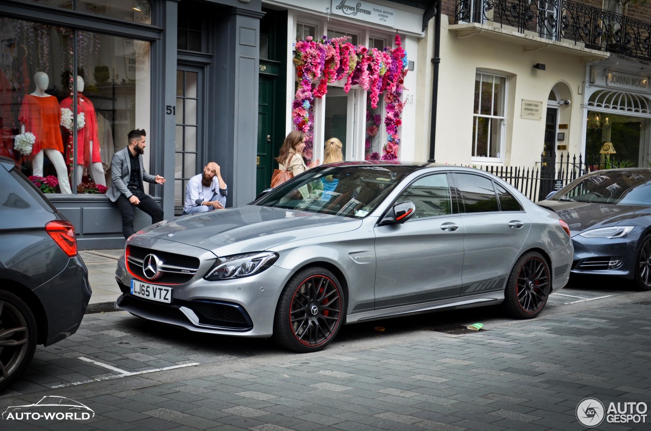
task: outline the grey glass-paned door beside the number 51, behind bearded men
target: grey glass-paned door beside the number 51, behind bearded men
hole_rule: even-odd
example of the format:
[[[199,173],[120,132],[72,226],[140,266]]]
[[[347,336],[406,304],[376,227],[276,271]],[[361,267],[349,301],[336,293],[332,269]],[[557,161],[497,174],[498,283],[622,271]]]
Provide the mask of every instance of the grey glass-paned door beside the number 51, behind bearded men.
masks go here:
[[[176,66],[176,106],[167,109],[176,118],[174,139],[174,215],[183,212],[187,181],[203,167],[199,143],[204,137],[204,68]]]

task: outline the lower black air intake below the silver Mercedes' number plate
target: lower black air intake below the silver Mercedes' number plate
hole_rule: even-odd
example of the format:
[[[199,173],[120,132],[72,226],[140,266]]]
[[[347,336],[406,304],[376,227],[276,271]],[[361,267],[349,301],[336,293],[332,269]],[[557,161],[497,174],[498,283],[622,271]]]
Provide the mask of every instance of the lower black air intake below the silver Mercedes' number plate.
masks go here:
[[[160,318],[166,322],[192,324],[180,310],[180,307],[187,307],[197,315],[199,323],[202,325],[233,331],[247,331],[253,328],[253,321],[245,309],[241,305],[228,302],[198,299],[195,301],[176,300],[173,304],[165,304],[126,294],[118,301],[118,307],[154,320]]]

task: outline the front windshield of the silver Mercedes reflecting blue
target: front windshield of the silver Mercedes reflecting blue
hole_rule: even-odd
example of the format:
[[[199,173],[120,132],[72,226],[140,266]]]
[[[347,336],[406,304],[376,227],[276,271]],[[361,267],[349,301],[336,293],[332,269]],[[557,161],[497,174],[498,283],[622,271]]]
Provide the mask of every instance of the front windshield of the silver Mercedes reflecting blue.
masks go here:
[[[255,204],[360,219],[412,170],[400,165],[316,167],[270,191]]]

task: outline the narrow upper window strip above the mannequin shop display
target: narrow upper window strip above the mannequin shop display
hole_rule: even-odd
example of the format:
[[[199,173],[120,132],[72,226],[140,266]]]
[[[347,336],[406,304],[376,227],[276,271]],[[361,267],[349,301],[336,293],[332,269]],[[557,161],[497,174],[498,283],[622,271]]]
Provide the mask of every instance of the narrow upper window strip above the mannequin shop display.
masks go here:
[[[76,9],[80,12],[133,21],[142,24],[152,23],[152,10],[148,0],[27,0],[30,3]]]

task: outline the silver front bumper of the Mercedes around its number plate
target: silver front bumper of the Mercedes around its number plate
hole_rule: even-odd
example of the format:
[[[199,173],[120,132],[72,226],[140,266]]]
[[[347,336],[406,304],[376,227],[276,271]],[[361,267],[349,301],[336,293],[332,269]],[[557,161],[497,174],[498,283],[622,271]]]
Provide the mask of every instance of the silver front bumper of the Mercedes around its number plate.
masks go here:
[[[291,273],[271,266],[262,273],[234,280],[203,279],[204,262],[188,283],[172,288],[171,303],[131,294],[132,275],[118,260],[118,286],[122,295],[115,305],[136,316],[184,327],[190,331],[241,337],[271,337],[280,294]],[[151,282],[156,285],[156,282]]]

